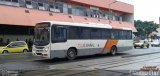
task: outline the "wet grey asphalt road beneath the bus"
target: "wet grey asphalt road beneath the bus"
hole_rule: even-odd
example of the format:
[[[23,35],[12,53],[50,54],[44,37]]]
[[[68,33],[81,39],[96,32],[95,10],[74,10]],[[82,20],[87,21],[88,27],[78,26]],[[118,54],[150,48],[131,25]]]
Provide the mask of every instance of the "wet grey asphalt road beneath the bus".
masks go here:
[[[116,56],[78,57],[73,61],[42,60],[30,53],[0,55],[0,70],[19,76],[130,76],[144,66],[160,67],[160,47],[132,49]]]

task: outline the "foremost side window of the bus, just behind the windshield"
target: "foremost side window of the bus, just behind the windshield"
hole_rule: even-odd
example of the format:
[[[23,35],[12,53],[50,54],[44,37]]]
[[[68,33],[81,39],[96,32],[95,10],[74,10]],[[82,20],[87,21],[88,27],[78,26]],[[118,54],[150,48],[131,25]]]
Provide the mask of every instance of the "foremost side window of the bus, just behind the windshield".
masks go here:
[[[67,29],[64,27],[55,27],[54,42],[65,42],[67,40]]]

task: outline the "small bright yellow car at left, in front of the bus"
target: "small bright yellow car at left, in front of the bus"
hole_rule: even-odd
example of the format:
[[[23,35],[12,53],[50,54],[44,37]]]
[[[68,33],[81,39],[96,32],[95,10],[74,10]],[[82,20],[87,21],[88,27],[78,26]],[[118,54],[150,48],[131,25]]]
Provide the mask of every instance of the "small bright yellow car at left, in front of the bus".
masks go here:
[[[28,52],[28,50],[28,45],[25,41],[13,41],[10,42],[7,46],[0,47],[1,54]]]

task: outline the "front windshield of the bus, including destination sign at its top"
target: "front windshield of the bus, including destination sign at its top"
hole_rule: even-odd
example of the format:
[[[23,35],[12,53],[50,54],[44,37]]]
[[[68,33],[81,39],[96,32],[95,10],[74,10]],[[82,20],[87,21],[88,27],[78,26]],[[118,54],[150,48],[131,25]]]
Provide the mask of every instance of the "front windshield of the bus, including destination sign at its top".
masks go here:
[[[50,24],[49,23],[39,23],[34,29],[34,45],[44,46],[49,44],[50,40]]]

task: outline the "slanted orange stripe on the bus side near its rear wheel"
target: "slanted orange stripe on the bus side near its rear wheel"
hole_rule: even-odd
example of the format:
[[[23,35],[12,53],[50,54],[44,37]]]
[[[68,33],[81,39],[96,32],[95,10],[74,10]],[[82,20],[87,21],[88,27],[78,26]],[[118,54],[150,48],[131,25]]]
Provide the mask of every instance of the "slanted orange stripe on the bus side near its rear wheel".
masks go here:
[[[118,40],[107,40],[104,48],[102,49],[102,53],[105,51],[105,49],[107,49],[108,52],[111,51],[111,47],[114,45],[117,45]]]

